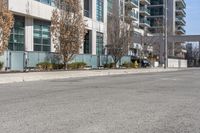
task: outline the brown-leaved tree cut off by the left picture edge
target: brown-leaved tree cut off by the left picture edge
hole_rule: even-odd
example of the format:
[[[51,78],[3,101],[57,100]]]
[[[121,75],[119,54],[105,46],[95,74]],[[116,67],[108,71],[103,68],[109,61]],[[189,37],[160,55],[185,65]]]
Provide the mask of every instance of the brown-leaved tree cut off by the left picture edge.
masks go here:
[[[13,24],[13,14],[8,10],[7,1],[0,0],[0,54],[8,48],[8,41]]]

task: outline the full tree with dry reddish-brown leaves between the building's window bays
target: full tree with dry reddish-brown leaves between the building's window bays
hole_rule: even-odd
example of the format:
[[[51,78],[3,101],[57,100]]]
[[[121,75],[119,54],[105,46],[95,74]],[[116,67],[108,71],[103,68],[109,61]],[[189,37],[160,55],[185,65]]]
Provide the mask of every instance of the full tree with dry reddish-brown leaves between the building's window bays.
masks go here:
[[[55,0],[51,34],[56,52],[64,60],[65,68],[75,54],[79,53],[85,35],[85,22],[80,0]]]

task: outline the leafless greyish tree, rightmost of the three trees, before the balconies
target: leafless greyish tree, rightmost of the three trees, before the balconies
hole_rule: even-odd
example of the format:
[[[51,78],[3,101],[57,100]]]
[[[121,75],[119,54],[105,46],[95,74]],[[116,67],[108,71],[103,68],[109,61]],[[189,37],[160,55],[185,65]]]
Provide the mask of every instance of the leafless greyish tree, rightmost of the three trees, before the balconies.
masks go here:
[[[127,12],[127,11],[126,11]],[[123,16],[124,17],[124,16]],[[115,67],[117,62],[128,54],[129,46],[133,42],[132,33],[133,26],[131,18],[124,18],[119,10],[117,0],[112,1],[112,11],[108,16],[107,31],[108,31],[108,54],[112,56]]]

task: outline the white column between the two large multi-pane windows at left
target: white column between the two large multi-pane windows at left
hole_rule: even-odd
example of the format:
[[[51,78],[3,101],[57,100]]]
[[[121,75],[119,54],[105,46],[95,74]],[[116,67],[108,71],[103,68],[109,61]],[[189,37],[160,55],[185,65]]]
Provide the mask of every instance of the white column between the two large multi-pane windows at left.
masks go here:
[[[25,17],[25,51],[33,50],[33,18]]]

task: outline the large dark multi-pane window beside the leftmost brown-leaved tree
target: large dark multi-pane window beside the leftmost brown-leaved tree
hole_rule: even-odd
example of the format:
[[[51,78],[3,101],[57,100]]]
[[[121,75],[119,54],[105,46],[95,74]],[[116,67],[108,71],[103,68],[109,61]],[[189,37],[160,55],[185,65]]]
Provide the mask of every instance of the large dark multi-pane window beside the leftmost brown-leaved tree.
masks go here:
[[[13,51],[24,51],[25,42],[25,18],[14,16],[15,24],[10,34],[8,49]]]

